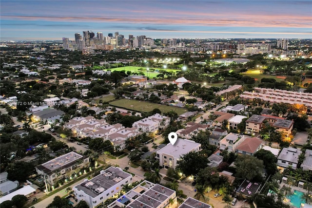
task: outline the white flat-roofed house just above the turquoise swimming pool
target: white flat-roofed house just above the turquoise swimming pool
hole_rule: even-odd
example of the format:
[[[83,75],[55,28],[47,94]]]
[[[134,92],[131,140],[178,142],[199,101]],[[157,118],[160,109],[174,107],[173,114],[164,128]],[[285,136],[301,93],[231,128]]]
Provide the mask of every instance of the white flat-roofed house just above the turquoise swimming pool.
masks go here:
[[[297,169],[301,152],[302,151],[292,147],[284,147],[277,157],[276,165],[281,168],[288,168],[290,166],[292,169]]]

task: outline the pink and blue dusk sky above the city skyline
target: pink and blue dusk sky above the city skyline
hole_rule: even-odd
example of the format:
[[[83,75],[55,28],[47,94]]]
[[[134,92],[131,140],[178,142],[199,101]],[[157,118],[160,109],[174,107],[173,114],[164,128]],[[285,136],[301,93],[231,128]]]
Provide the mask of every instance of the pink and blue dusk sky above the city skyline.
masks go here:
[[[0,40],[312,38],[312,0],[1,0]]]

